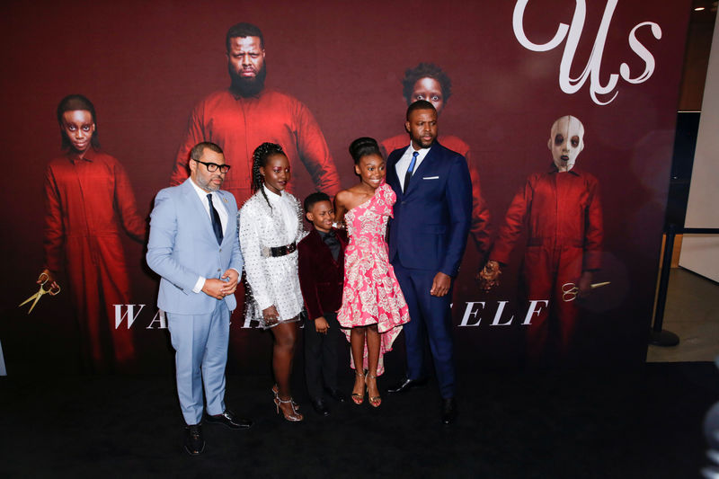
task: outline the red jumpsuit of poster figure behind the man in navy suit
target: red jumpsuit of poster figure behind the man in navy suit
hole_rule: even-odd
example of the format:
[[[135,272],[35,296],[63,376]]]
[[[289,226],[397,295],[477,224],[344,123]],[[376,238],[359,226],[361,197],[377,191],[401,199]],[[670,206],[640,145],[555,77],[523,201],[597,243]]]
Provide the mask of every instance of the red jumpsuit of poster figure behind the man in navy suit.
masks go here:
[[[439,135],[437,141],[440,145],[446,146],[450,150],[456,151],[458,154],[464,156],[469,166],[469,176],[472,180],[472,225],[470,226],[469,233],[475,238],[477,251],[484,256],[484,254],[489,251],[491,232],[489,228],[489,209],[482,198],[482,187],[479,183],[479,169],[477,165],[472,162],[469,155],[469,145],[464,141],[451,135],[447,137]],[[396,149],[406,148],[409,145],[409,137],[405,134],[387,138],[379,144],[379,147],[383,150],[382,153],[386,158],[387,155]]]

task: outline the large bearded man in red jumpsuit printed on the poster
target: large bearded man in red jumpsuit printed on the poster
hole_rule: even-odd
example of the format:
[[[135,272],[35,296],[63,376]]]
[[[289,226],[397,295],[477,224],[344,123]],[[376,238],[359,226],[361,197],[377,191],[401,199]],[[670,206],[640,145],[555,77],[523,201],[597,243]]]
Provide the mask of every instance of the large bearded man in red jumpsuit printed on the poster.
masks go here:
[[[267,67],[262,31],[251,23],[230,27],[226,56],[230,87],[210,93],[195,105],[170,183],[178,185],[187,179],[192,146],[211,141],[225,151],[226,162],[232,166],[223,188],[242,205],[252,196],[246,179],[252,177],[253,151],[271,142],[282,146],[293,170],[297,162],[305,164],[317,190],[329,195],[340,191],[340,177],[312,112],[296,98],[264,86]]]

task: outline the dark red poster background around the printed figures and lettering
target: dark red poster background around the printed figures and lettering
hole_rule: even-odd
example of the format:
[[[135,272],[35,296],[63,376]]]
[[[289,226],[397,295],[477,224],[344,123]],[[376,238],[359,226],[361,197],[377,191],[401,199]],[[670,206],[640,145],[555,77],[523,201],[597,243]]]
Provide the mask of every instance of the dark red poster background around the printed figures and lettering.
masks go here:
[[[615,3],[586,5],[573,76],[587,63],[606,5]],[[535,43],[551,40],[560,22],[572,22],[577,4],[583,2],[529,2],[523,23],[528,38]],[[0,213],[5,253],[0,342],[8,372],[72,372],[77,365],[79,340],[67,295],[43,298],[31,315],[16,307],[35,289],[42,263],[42,178],[49,159],[58,155],[58,101],[68,93],[93,100],[103,149],[125,165],[140,213],[146,216],[156,191],[168,185],[193,104],[228,84],[225,33],[241,21],[262,28],[267,83],[313,111],[344,187],[356,181],[347,153],[352,139],[382,139],[403,131],[406,105],[400,80],[406,68],[421,61],[438,64],[452,79],[453,94],[439,129],[471,146],[495,230],[528,173],[551,161],[546,140],[552,122],[565,114],[582,120],[586,146],[578,164],[598,177],[604,205],[606,260],[597,279],[611,280],[612,285],[588,304],[577,342],[588,359],[643,361],[689,2],[617,4],[600,58],[601,84],[619,73],[623,62],[632,76],[644,69],[627,40],[635,25],[657,23],[661,39],[655,39],[648,26],[637,31],[656,62],[653,75],[641,84],[620,77],[616,99],[603,106],[592,101],[590,80],[577,93],[561,91],[558,78],[566,40],[546,52],[525,49],[512,29],[514,7],[512,2],[458,0],[6,6],[0,20],[0,128],[6,133],[0,190],[5,205]],[[295,192],[304,198],[311,182],[305,171],[294,173]],[[125,247],[134,302],[147,305],[133,326],[139,365],[142,371],[167,370],[172,368],[168,334],[145,329],[156,313],[157,279],[144,265],[144,246],[127,239]],[[480,259],[473,247],[467,249],[454,306],[460,367],[517,363],[521,309],[526,307],[519,304],[517,293],[522,250],[518,248],[504,271],[502,287],[484,294],[472,280]],[[459,326],[467,301],[485,302],[483,312],[471,320],[474,324],[481,317],[477,326]],[[521,317],[509,326],[492,326],[498,301],[509,301],[502,323],[515,308]],[[230,367],[265,368],[269,338],[241,329],[237,319],[235,314]]]

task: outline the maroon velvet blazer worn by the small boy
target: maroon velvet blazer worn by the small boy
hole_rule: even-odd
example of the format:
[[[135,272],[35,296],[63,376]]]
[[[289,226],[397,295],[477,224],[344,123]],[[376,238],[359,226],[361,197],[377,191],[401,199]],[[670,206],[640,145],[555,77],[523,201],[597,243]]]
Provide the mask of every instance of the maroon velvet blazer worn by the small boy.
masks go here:
[[[334,229],[340,241],[340,254],[335,262],[330,248],[313,227],[305,239],[297,244],[299,254],[299,286],[305,298],[307,316],[314,321],[328,311],[342,306],[344,283],[344,249],[347,237],[343,230]]]

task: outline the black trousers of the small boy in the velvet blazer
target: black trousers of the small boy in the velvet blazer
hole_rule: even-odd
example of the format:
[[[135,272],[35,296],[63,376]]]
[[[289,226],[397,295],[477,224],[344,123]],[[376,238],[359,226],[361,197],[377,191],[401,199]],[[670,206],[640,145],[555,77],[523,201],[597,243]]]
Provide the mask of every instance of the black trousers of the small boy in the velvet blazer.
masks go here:
[[[305,377],[310,397],[322,397],[323,382],[328,389],[337,389],[337,342],[342,332],[337,313],[325,313],[330,325],[326,334],[317,333],[315,321],[305,323]]]

